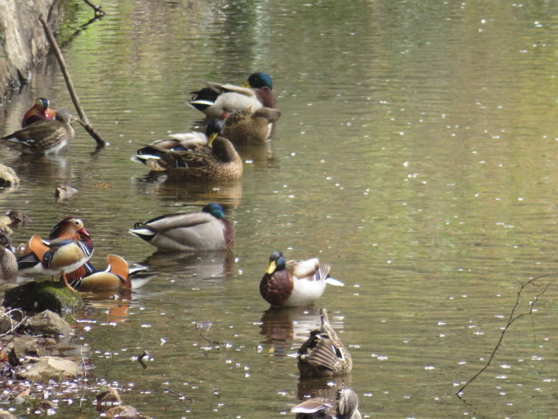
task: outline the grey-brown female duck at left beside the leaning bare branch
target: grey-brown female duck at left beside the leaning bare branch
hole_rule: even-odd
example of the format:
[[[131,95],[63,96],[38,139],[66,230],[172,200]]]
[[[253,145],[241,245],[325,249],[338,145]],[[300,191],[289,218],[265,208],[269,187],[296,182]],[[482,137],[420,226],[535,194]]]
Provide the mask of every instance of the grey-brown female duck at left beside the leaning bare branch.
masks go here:
[[[72,115],[59,112],[56,119],[33,122],[0,140],[6,140],[8,147],[24,154],[58,153],[74,138],[72,119]]]

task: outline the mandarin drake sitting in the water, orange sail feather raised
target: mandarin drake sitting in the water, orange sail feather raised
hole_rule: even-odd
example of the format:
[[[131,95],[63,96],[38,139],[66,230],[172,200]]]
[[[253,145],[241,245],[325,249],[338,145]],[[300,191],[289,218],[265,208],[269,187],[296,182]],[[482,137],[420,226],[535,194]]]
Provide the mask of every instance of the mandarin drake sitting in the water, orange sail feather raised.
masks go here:
[[[91,263],[86,263],[88,273],[70,282],[77,291],[93,292],[105,291],[113,288],[126,288],[128,290],[140,288],[151,277],[135,277],[138,270],[147,268],[130,267],[126,260],[116,255],[107,255],[108,267],[105,270],[96,270]],[[91,270],[91,272],[89,272]]]

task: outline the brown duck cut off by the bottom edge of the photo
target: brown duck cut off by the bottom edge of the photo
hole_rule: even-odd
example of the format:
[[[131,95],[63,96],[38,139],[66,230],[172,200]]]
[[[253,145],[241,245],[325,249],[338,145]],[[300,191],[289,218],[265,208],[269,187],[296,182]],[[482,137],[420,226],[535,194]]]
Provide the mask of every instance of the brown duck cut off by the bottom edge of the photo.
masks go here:
[[[337,400],[314,397],[296,404],[291,409],[296,419],[361,419],[359,396],[350,388],[345,388]]]

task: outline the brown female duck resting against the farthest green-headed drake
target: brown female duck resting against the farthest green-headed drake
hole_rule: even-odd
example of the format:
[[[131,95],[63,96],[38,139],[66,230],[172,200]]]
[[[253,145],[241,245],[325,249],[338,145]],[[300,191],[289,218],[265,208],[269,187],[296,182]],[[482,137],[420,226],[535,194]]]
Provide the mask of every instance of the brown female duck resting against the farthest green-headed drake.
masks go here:
[[[223,127],[223,137],[235,145],[257,144],[265,142],[271,135],[273,123],[279,119],[281,112],[271,108],[247,106],[227,116]]]

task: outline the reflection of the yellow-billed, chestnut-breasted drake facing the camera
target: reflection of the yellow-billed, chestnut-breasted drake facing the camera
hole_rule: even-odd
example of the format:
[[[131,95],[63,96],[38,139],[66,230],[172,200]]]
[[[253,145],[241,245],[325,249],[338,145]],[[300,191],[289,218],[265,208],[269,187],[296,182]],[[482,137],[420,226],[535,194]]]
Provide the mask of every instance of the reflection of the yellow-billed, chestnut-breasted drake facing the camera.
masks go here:
[[[319,328],[319,311],[313,307],[270,307],[262,314],[260,335],[266,337],[262,344],[277,346],[276,351],[291,351],[291,346],[300,346],[310,335],[310,330]]]

